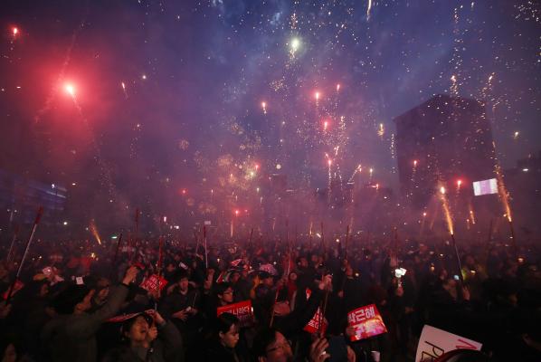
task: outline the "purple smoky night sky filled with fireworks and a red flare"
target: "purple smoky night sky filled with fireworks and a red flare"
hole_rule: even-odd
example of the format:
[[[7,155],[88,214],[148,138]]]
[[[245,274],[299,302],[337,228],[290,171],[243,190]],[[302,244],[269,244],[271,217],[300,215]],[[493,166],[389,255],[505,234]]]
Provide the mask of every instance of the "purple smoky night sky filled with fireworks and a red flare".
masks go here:
[[[504,167],[541,148],[537,1],[1,7],[0,167],[126,214],[219,214],[271,174],[308,190],[359,165],[397,190],[394,117],[453,85],[487,102]]]

